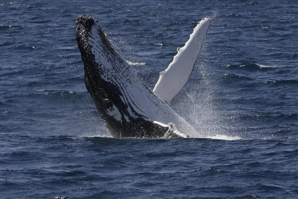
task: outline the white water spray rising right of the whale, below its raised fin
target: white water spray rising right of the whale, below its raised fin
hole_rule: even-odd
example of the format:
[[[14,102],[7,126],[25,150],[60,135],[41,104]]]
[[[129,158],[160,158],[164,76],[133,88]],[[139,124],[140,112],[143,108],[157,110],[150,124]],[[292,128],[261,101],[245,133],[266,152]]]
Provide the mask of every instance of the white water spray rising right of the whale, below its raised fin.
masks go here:
[[[216,79],[206,67],[206,62],[199,63],[186,88],[186,98],[179,103],[179,112],[193,125],[200,138],[236,140],[238,136],[228,132],[226,117],[218,110],[214,89]],[[181,104],[184,103],[184,104]]]

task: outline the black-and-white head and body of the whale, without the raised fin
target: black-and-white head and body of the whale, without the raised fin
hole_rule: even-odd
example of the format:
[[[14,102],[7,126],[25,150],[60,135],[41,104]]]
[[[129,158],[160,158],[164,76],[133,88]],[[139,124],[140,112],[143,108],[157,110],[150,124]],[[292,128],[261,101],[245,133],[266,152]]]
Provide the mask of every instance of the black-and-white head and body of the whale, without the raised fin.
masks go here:
[[[86,88],[113,137],[198,137],[114,50],[97,19],[79,16],[76,39]]]

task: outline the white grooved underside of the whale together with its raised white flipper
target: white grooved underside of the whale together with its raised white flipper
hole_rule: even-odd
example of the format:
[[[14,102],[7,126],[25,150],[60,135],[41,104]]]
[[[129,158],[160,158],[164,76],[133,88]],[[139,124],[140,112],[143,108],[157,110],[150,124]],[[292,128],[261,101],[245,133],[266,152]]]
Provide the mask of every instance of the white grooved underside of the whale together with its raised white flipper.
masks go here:
[[[99,24],[92,26],[89,34],[91,52],[98,63],[98,70],[104,71],[102,78],[119,87],[122,101],[127,105],[125,112],[135,117],[152,121],[161,126],[173,127],[175,133],[181,137],[202,137],[183,118],[174,112],[167,103],[186,84],[195,64],[198,51],[206,36],[211,18],[204,18],[195,27],[190,35],[190,40],[178,50],[174,61],[161,73],[154,92],[145,84],[137,73],[129,67],[120,55],[107,53],[99,34]],[[155,95],[155,96],[154,96]],[[112,107],[108,115],[113,116],[119,122],[125,122],[127,117],[121,117],[119,109]]]

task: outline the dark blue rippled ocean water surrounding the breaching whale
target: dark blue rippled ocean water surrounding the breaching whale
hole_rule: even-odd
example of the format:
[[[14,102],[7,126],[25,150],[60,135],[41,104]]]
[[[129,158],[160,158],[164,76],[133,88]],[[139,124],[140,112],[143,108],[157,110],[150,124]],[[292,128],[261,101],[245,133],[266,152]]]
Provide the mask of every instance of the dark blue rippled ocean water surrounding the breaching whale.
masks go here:
[[[0,198],[298,198],[296,1],[1,1]],[[212,25],[170,106],[201,138],[111,138],[84,85],[77,16],[153,88]]]

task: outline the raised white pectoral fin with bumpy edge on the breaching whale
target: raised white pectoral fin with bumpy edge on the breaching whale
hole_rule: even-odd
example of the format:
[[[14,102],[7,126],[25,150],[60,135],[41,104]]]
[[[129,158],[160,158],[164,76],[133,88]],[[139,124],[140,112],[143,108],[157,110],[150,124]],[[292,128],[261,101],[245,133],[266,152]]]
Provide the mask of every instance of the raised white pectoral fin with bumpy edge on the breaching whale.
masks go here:
[[[198,22],[184,47],[177,49],[178,53],[167,69],[159,73],[159,80],[153,92],[165,102],[169,103],[187,83],[197,60],[198,51],[201,49],[207,35],[211,20],[212,18],[206,17]]]

